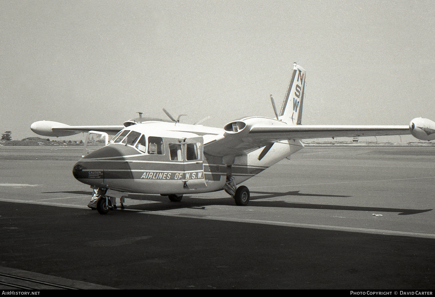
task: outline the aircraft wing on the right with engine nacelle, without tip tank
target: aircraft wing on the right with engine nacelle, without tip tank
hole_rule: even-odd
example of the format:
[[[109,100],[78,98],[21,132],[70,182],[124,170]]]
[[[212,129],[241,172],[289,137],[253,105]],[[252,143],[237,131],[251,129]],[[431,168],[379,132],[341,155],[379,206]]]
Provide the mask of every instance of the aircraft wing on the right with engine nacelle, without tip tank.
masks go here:
[[[283,140],[411,134],[408,125],[288,125],[282,121],[251,117],[230,122],[224,133],[205,139],[210,155],[240,155]]]

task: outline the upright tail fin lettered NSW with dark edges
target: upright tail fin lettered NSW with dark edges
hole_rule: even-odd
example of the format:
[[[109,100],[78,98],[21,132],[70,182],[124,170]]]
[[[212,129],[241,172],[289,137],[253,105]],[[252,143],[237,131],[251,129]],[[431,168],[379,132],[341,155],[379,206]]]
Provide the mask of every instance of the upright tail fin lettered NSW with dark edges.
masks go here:
[[[288,124],[301,125],[302,120],[302,102],[304,101],[305,91],[305,69],[294,63],[293,73],[287,93],[282,102],[279,119]],[[293,104],[293,108],[291,105]]]

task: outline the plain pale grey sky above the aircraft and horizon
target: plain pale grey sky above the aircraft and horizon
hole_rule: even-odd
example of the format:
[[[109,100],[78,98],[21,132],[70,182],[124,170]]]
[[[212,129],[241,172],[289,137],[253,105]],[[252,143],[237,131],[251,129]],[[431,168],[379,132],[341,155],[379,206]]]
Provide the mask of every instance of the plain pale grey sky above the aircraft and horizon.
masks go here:
[[[274,117],[293,62],[302,124],[435,120],[435,2],[1,1],[0,130],[187,114]]]

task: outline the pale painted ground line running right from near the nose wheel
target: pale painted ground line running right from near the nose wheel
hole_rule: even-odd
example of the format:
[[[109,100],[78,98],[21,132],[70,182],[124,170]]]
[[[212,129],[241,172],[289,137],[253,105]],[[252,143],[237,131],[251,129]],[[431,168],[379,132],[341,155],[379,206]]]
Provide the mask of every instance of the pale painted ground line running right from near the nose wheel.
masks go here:
[[[393,230],[378,230],[378,229],[341,227],[341,226],[329,226],[329,225],[318,225],[318,224],[302,224],[302,223],[279,222],[279,221],[263,221],[263,220],[242,219],[242,218],[223,218],[223,217],[193,216],[193,215],[191,216],[188,214],[171,214],[171,213],[165,213],[162,211],[154,211],[154,212],[150,211],[150,212],[142,212],[142,213],[166,215],[166,216],[170,216],[170,217],[200,218],[200,219],[216,220],[216,221],[232,221],[232,222],[241,222],[241,223],[267,224],[267,225],[301,227],[301,228],[311,228],[311,229],[325,229],[325,230],[352,231],[352,232],[363,232],[363,233],[380,233],[380,234],[389,234],[389,235],[404,235],[404,236],[418,236],[418,237],[435,238],[435,234],[430,234],[430,233],[417,233],[417,232],[405,232],[405,231],[393,231]]]

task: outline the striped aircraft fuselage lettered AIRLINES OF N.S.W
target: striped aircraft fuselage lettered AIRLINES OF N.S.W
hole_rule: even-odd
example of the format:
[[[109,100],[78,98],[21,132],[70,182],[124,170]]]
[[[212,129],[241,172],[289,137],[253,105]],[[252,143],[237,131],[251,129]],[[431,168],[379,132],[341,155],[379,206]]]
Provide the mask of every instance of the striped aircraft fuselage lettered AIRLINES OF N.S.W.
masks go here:
[[[80,159],[73,174],[85,184],[123,192],[181,195],[219,191],[224,188],[228,166],[222,156],[204,152],[204,145],[221,134],[224,129],[202,125],[131,125],[108,145]],[[135,138],[128,139],[129,135]],[[142,144],[141,139],[145,140]],[[235,156],[231,175],[240,184],[301,148],[300,141],[289,140],[274,143],[260,160],[263,148]]]

